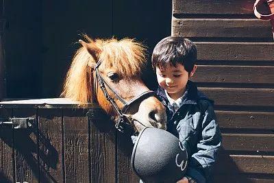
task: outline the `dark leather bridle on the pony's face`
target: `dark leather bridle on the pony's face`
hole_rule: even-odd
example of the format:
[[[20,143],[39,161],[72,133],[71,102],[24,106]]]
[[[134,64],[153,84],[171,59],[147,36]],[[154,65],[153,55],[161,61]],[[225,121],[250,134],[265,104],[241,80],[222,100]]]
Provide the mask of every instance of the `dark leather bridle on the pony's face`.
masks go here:
[[[134,118],[130,117],[129,115],[125,114],[125,112],[127,112],[129,106],[132,105],[132,103],[135,103],[136,101],[139,101],[141,99],[146,99],[147,97],[155,96],[155,93],[152,90],[147,90],[144,93],[141,93],[140,95],[130,99],[129,101],[125,101],[125,99],[123,99],[116,92],[116,90],[114,90],[114,88],[112,88],[110,86],[110,84],[108,84],[108,82],[103,80],[103,77],[101,77],[101,74],[99,73],[99,69],[98,69],[100,64],[101,64],[101,60],[99,60],[99,62],[97,62],[97,65],[95,66],[95,75],[96,75],[96,78],[95,78],[95,92],[97,90],[97,84],[99,84],[101,90],[103,91],[103,95],[105,95],[105,98],[108,101],[110,101],[110,103],[113,106],[114,110],[116,110],[117,114],[119,115],[119,119],[118,119],[118,121],[116,121],[116,124],[115,124],[116,129],[119,130],[120,132],[124,132],[125,127],[126,126],[131,126],[133,121],[136,121],[136,122],[140,123],[141,125],[143,125],[144,127],[146,127],[144,124],[142,124],[137,119],[134,119]],[[110,95],[108,94],[108,90],[105,88],[105,86],[107,86],[108,89],[112,93],[114,93],[114,96],[116,97],[116,99],[119,99],[119,101],[121,101],[121,103],[123,103],[124,106],[123,106],[122,110],[118,107],[118,105],[114,101],[114,99],[112,97],[110,97]]]

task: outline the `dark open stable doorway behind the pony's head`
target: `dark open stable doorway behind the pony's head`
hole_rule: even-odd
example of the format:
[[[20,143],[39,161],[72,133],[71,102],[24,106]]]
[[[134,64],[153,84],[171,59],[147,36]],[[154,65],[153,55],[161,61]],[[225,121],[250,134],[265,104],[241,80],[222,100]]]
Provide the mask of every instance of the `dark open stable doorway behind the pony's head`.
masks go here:
[[[59,97],[81,33],[136,38],[149,51],[171,34],[171,0],[0,3],[8,98]]]

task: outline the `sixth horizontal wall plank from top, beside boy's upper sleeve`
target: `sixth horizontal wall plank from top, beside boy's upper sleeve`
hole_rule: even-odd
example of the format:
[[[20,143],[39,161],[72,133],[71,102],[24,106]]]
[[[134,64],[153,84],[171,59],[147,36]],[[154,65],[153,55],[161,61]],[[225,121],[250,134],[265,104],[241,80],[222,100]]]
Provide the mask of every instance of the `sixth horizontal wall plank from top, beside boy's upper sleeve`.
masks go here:
[[[216,110],[221,128],[274,130],[274,112]]]

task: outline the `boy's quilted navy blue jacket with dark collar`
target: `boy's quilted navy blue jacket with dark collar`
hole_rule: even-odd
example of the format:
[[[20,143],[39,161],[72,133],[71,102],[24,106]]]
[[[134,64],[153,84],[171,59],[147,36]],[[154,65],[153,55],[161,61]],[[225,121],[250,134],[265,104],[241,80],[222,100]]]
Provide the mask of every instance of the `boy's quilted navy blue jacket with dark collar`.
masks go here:
[[[213,101],[197,90],[188,81],[186,92],[174,110],[159,86],[157,95],[166,106],[167,131],[177,136],[188,151],[188,171],[186,176],[198,183],[211,182],[216,155],[221,147],[221,132],[216,123]]]

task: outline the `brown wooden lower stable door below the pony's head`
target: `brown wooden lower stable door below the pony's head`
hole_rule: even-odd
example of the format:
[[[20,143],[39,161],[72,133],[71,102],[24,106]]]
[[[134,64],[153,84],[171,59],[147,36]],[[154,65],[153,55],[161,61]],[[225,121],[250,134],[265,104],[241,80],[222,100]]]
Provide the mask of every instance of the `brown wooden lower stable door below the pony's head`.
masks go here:
[[[28,130],[0,126],[1,183],[138,182],[129,136],[117,132],[97,104],[82,109],[55,101],[0,103],[1,119],[36,119]],[[93,117],[86,117],[88,110]]]

